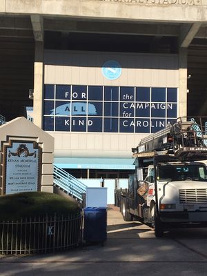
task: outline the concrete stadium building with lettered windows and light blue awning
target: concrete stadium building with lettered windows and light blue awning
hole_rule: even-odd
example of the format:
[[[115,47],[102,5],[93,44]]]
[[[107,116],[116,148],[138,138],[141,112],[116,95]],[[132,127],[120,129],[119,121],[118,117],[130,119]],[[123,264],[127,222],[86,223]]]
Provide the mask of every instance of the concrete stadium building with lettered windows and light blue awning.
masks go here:
[[[77,177],[126,177],[142,137],[206,116],[207,0],[0,0],[0,14],[0,114],[33,106]]]

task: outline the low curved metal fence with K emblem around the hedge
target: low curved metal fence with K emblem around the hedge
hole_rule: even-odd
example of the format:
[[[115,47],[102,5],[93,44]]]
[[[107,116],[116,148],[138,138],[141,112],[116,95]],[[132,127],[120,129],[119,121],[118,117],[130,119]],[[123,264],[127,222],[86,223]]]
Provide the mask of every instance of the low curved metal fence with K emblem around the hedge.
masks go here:
[[[0,222],[0,254],[49,253],[81,243],[82,213]]]

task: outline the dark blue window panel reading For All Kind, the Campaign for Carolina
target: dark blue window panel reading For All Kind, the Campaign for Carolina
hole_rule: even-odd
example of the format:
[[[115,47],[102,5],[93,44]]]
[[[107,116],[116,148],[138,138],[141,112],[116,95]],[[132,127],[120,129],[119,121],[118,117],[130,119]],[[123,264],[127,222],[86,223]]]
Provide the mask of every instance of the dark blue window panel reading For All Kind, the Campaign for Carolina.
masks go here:
[[[177,88],[45,85],[44,130],[150,133],[177,118]]]

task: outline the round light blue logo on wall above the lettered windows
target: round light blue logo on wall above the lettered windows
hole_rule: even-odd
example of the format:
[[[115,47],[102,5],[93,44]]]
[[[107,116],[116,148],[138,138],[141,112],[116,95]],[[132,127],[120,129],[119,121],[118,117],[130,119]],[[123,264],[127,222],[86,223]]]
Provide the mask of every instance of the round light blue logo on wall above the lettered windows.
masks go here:
[[[121,75],[121,65],[118,61],[106,61],[102,67],[102,74],[106,79],[118,79]]]

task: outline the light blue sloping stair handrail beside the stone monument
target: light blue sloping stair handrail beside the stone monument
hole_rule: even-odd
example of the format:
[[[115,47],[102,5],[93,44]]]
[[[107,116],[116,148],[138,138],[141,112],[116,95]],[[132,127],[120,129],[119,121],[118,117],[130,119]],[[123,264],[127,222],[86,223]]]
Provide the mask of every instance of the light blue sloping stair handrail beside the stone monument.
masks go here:
[[[55,185],[66,191],[68,195],[83,201],[83,194],[86,193],[87,187],[85,184],[55,165],[53,176]]]

